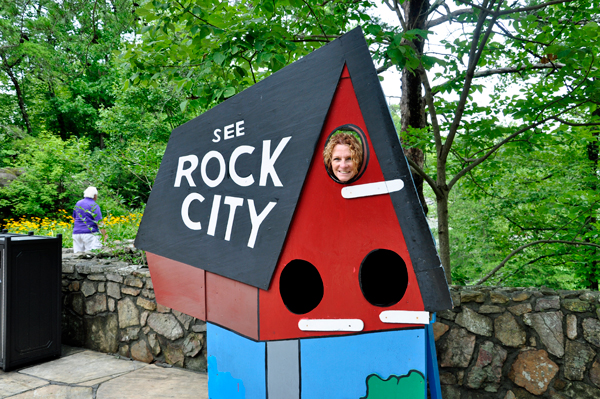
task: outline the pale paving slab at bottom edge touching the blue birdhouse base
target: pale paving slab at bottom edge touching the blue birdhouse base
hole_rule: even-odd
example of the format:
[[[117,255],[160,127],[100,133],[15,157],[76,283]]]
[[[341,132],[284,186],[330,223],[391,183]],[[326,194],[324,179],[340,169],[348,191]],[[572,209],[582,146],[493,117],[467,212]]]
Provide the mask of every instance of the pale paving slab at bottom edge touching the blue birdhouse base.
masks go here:
[[[179,368],[148,366],[104,382],[96,399],[208,399],[208,376]]]

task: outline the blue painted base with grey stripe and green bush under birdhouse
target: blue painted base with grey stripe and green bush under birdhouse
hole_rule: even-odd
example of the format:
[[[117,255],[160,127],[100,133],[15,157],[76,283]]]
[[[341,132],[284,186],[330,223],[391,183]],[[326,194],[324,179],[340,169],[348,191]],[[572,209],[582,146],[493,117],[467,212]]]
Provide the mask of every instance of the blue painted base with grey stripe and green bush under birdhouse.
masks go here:
[[[256,342],[207,323],[207,340],[210,399],[426,397],[423,328]]]

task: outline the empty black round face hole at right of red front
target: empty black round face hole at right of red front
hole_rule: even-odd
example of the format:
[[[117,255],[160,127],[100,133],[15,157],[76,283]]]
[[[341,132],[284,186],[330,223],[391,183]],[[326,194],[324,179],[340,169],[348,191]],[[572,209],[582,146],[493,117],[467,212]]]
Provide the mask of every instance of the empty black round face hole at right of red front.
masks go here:
[[[374,306],[395,305],[408,286],[406,263],[388,249],[371,251],[360,265],[358,278],[363,296]]]

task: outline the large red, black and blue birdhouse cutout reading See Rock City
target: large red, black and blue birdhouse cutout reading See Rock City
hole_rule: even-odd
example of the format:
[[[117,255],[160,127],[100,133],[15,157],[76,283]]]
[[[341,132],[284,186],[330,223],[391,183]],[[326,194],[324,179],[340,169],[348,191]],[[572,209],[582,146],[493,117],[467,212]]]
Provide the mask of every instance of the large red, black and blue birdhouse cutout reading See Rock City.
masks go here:
[[[360,29],[175,129],[136,246],[211,398],[424,397],[452,302]]]

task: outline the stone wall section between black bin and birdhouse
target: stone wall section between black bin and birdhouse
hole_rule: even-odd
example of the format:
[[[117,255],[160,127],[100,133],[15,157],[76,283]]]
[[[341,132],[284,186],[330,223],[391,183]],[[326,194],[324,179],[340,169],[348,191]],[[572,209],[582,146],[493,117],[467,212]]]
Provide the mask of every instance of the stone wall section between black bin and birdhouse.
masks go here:
[[[206,370],[206,324],[156,303],[146,267],[63,250],[63,343]]]

